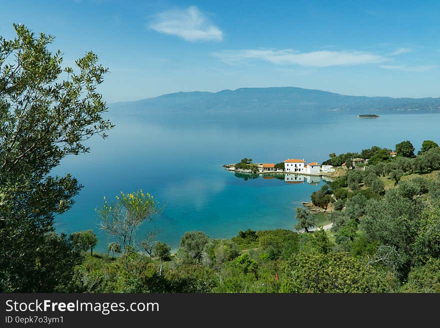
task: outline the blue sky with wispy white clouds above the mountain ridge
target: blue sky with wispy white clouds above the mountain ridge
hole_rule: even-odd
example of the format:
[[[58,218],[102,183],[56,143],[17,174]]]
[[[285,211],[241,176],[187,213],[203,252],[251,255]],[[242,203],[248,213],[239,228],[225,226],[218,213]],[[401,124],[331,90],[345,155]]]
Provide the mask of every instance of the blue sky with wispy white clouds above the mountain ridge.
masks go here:
[[[108,102],[178,91],[296,86],[440,97],[440,1],[0,0],[13,23],[55,36],[63,64],[95,52]]]

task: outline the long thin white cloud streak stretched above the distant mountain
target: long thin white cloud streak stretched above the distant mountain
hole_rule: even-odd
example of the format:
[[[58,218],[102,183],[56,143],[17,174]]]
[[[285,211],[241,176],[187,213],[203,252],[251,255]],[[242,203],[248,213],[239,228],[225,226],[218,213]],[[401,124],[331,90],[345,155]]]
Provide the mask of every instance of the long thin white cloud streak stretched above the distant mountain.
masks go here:
[[[292,49],[282,50],[223,50],[214,52],[213,55],[226,63],[238,63],[250,59],[264,60],[272,64],[301,66],[338,66],[381,63],[388,58],[363,51],[328,51],[319,50],[311,52],[299,52]]]

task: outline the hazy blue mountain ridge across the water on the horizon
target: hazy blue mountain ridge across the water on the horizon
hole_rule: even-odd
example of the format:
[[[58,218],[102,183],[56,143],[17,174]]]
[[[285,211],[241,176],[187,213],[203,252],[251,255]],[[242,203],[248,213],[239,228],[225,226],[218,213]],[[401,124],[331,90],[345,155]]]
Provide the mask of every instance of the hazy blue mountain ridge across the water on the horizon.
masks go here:
[[[347,96],[297,87],[239,88],[218,92],[176,92],[111,108],[147,112],[440,112],[440,98],[391,98]]]

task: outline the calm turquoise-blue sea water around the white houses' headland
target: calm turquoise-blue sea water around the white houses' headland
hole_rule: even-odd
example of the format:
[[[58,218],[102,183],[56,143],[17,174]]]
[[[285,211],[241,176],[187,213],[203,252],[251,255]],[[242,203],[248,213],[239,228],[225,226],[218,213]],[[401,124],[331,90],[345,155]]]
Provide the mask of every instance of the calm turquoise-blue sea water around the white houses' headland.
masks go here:
[[[291,229],[294,209],[322,182],[288,184],[284,179],[243,179],[221,165],[250,157],[277,163],[287,158],[322,162],[328,154],[354,152],[372,145],[394,148],[410,140],[439,142],[439,114],[388,114],[359,119],[356,114],[303,116],[183,114],[151,117],[113,113],[116,127],[106,140],[91,141],[91,152],[69,157],[55,174],[70,172],[84,185],[71,210],[56,218],[58,232],[92,229],[103,251],[108,237],[99,231],[95,208],[103,196],[142,189],[164,206],[153,224],[158,239],[178,248],[185,231],[229,238],[239,230]],[[315,181],[316,182],[316,181]]]

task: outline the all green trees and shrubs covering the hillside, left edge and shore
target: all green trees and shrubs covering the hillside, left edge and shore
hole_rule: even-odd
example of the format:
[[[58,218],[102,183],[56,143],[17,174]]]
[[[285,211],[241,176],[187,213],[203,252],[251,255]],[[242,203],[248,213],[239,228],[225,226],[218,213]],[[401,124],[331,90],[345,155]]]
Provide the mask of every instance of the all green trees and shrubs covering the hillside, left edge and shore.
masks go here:
[[[61,69],[51,36],[15,30],[15,39],[0,38],[0,292],[440,292],[440,148],[429,140],[417,156],[409,141],[396,157],[377,146],[330,154],[327,164],[351,169],[311,195],[331,212],[328,232],[246,230],[221,240],[191,231],[170,254],[159,230],[136,235],[161,209],[139,190],[104,198],[96,211],[114,239],[106,255],[93,252],[90,230],[56,234],[55,215],[81,186],[50,172],[112,127],[96,92],[106,69],[91,52],[77,69]],[[356,157],[366,166],[351,165]],[[237,167],[256,165],[243,158]],[[304,209],[296,218],[305,232],[316,225]]]

